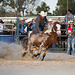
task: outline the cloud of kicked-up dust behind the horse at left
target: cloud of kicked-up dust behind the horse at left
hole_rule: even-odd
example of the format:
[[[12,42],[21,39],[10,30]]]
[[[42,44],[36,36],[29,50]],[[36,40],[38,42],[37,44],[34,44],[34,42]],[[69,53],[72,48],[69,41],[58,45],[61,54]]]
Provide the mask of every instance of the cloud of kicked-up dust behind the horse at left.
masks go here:
[[[0,42],[0,58],[7,60],[31,60],[30,53],[27,53],[24,58],[21,57],[24,51],[25,49],[23,49],[22,45]]]

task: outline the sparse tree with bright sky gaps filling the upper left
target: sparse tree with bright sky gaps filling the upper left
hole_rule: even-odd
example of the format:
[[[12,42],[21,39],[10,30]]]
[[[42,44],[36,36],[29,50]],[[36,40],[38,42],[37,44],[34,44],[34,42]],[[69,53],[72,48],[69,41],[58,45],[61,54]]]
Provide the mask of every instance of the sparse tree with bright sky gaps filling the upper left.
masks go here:
[[[21,16],[21,12],[24,16],[24,13],[30,15],[30,12],[34,9],[36,1],[37,0],[0,0],[0,3],[2,2],[3,9],[8,5],[14,9],[18,16]]]

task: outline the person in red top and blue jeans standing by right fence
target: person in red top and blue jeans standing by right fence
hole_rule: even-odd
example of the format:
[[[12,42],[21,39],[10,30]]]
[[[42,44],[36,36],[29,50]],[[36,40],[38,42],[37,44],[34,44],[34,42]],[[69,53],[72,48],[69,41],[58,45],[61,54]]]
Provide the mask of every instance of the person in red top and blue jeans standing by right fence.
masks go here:
[[[72,39],[73,39],[73,21],[69,21],[68,22],[68,28],[67,28],[67,31],[66,31],[66,34],[68,35],[68,39],[67,39],[67,54],[68,55],[71,55],[71,48],[73,49],[73,42],[72,42]]]

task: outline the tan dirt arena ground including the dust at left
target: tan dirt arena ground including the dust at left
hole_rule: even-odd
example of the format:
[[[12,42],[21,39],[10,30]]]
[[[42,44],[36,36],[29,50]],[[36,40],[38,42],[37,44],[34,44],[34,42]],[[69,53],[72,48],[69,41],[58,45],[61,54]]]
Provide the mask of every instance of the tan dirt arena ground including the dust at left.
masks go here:
[[[44,61],[33,60],[20,45],[0,43],[0,75],[75,75],[75,56],[47,53]]]

